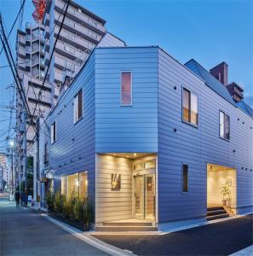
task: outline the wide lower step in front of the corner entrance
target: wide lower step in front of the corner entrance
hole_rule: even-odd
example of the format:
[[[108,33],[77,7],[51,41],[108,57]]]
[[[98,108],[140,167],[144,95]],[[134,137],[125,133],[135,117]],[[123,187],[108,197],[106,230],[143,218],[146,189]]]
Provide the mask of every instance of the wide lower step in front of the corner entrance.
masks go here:
[[[95,231],[121,232],[121,231],[157,231],[157,227],[151,226],[97,226]]]

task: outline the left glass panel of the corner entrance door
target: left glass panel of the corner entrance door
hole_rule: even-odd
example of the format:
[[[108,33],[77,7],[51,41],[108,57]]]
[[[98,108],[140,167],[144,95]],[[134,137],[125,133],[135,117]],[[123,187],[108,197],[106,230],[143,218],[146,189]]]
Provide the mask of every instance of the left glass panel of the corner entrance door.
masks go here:
[[[144,176],[135,176],[135,218],[144,218]]]

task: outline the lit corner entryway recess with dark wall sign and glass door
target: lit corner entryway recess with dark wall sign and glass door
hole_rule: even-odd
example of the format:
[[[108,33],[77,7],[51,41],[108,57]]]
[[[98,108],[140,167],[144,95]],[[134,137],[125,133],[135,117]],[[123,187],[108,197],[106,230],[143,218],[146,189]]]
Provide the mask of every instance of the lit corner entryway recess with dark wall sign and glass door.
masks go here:
[[[156,222],[157,155],[96,156],[95,221]]]

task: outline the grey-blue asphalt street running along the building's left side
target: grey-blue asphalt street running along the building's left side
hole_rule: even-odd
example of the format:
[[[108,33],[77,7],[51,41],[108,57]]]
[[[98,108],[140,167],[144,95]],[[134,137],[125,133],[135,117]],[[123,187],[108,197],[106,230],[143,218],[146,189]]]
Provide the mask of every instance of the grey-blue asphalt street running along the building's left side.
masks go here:
[[[107,255],[36,212],[0,197],[1,256]]]

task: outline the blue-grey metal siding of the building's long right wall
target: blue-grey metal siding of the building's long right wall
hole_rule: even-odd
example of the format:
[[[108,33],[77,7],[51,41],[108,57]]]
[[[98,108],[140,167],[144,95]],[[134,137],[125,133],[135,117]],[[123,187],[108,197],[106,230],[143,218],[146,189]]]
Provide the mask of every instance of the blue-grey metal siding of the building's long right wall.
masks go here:
[[[252,119],[161,49],[158,84],[158,221],[206,214],[207,163],[235,167],[238,207],[252,205]],[[182,85],[198,95],[198,128],[181,121]],[[219,138],[219,109],[230,115],[230,142]],[[187,194],[181,193],[182,163],[189,165]]]

